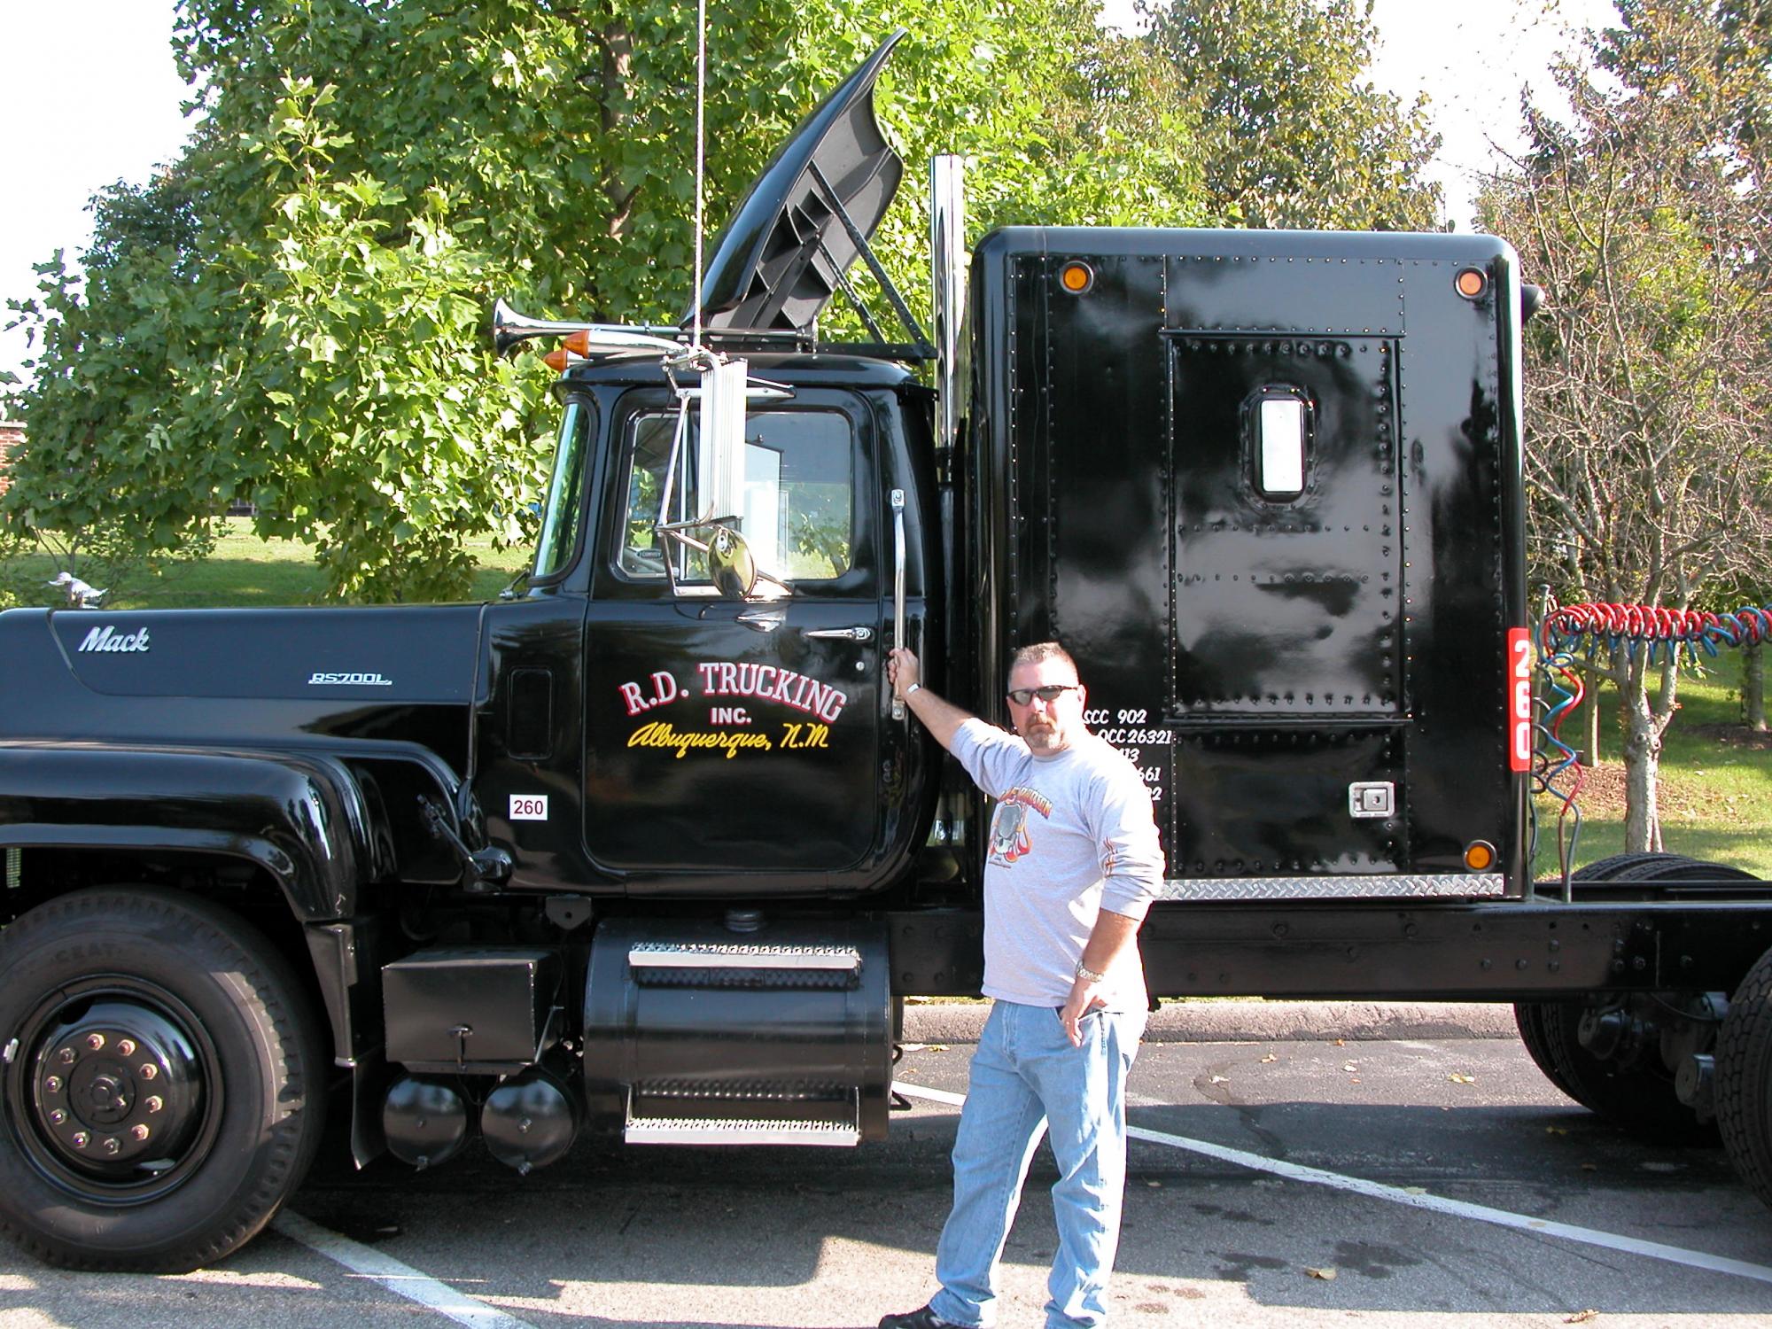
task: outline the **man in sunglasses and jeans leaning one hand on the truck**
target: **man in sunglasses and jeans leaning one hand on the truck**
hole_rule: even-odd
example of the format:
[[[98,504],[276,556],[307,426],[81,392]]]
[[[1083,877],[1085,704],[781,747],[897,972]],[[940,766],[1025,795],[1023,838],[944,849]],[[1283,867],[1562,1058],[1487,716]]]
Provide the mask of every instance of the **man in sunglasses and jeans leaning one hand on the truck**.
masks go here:
[[[1145,1030],[1138,925],[1162,881],[1150,792],[1084,728],[1088,695],[1056,641],[1010,663],[1019,737],[923,688],[909,650],[891,652],[890,675],[996,808],[985,865],[992,1006],[953,1141],[941,1290],[881,1329],[992,1324],[998,1256],[1044,1129],[1058,1159],[1045,1324],[1099,1325],[1125,1193],[1125,1076]]]

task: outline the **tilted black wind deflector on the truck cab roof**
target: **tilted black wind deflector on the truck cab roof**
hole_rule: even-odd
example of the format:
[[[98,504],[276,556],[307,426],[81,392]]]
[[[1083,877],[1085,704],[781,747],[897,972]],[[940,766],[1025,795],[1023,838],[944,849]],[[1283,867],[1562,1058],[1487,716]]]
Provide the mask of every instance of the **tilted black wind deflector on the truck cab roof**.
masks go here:
[[[874,80],[904,35],[888,35],[751,183],[702,280],[709,328],[804,331],[829,303],[858,253],[833,202],[872,237],[904,179],[904,161],[874,119]]]

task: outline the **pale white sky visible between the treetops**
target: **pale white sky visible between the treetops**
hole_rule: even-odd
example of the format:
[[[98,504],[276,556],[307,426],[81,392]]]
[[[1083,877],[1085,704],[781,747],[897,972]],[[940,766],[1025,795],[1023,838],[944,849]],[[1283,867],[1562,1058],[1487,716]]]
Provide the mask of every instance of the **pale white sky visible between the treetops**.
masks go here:
[[[0,0],[0,151],[9,183],[0,207],[0,326],[4,305],[35,291],[34,264],[57,248],[78,257],[90,239],[96,190],[145,183],[177,158],[190,129],[190,89],[172,62],[174,0]],[[1444,138],[1435,177],[1448,216],[1471,227],[1476,172],[1492,144],[1519,147],[1520,89],[1556,105],[1545,73],[1566,50],[1570,27],[1602,25],[1611,0],[1375,0],[1380,46],[1373,78],[1412,101],[1426,92]],[[1129,27],[1131,0],[1108,0],[1108,21]],[[0,370],[30,354],[19,330],[0,331]]]

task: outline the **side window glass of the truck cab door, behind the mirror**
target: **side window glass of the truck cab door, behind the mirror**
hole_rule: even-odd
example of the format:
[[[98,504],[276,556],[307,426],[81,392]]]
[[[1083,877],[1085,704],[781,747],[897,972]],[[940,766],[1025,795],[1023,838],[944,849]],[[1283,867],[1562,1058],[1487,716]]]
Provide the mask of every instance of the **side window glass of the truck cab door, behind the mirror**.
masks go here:
[[[627,494],[617,563],[634,579],[664,578],[677,558],[679,583],[705,583],[693,551],[659,548],[659,521],[675,413],[636,415],[627,425]],[[705,512],[696,484],[695,420],[672,480],[664,521],[735,516],[757,565],[789,581],[824,581],[849,571],[854,526],[851,424],[840,411],[758,411],[744,427],[742,510]],[[666,540],[666,544],[672,544]]]

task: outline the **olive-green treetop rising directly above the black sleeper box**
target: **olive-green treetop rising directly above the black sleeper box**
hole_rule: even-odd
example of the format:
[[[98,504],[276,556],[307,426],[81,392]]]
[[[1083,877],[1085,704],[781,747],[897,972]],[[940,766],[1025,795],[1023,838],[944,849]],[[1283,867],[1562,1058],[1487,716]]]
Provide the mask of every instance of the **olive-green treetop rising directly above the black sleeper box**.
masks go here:
[[[1200,120],[1205,207],[1251,227],[1432,230],[1426,103],[1372,83],[1372,0],[1139,0]]]

